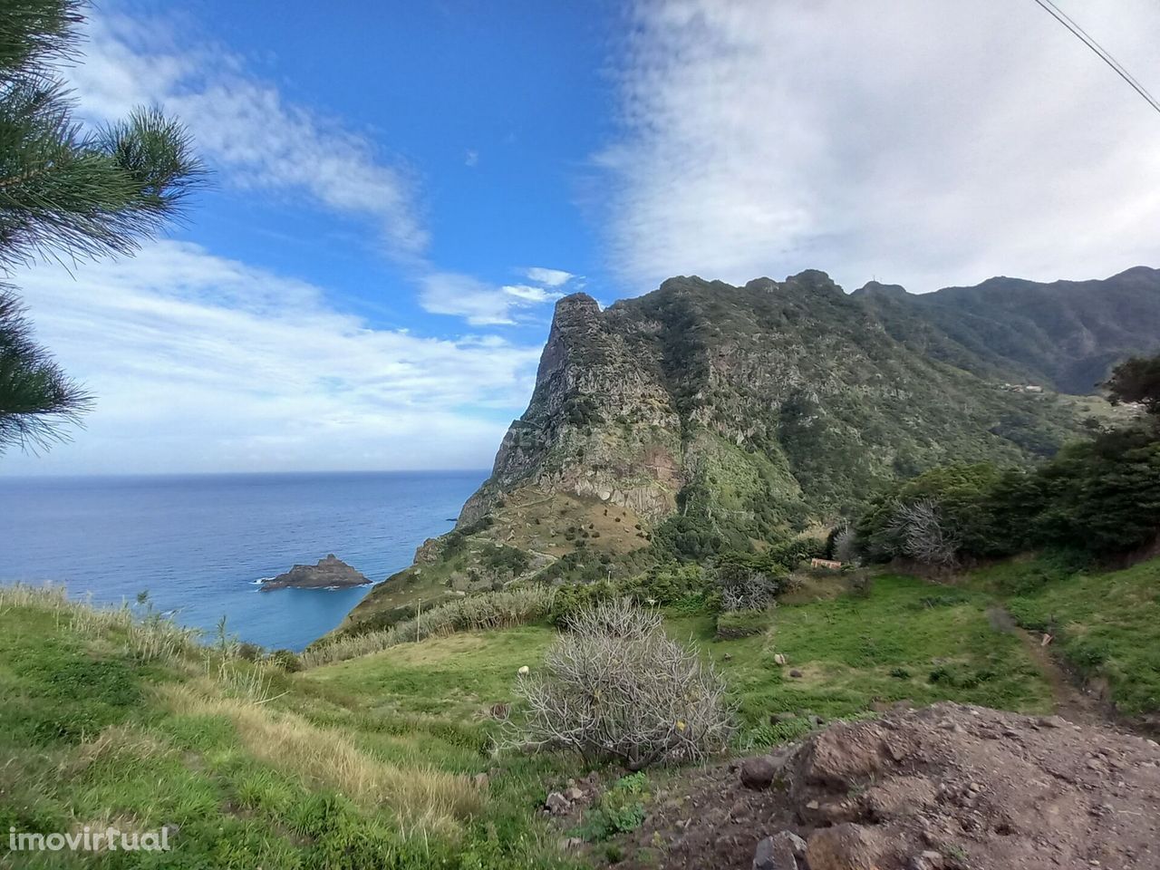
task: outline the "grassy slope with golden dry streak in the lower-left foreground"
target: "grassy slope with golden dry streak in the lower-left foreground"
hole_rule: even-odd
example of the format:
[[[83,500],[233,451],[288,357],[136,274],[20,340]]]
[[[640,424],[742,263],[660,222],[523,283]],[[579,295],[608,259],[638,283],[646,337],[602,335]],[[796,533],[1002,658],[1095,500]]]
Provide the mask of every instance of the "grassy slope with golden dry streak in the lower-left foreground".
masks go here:
[[[492,658],[485,676],[461,668],[443,684],[499,687]],[[434,716],[418,690],[413,703],[390,691],[206,648],[144,661],[119,621],[0,593],[0,827],[176,831],[164,855],[0,849],[0,867],[571,865],[535,813],[566,760],[496,764],[494,723],[470,705]],[[488,769],[488,783],[472,781]]]

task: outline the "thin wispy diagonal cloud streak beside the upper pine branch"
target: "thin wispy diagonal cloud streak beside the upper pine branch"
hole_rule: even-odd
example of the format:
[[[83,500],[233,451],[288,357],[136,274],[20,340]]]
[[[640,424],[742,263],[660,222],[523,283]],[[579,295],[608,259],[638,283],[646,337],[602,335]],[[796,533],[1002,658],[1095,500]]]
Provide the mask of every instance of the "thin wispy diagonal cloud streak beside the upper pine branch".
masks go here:
[[[189,126],[225,183],[374,220],[404,259],[426,247],[409,173],[384,161],[367,137],[288,103],[219,46],[177,46],[162,27],[116,14],[94,13],[86,35],[84,63],[68,74],[93,119],[161,104]]]

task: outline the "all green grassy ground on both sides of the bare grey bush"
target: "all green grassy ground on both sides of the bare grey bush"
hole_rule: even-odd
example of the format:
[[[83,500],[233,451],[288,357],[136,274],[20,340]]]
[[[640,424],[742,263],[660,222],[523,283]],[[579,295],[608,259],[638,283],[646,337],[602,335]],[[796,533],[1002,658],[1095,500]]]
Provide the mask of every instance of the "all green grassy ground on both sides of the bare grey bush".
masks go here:
[[[1049,683],[993,618],[996,602],[1054,629],[1060,651],[1103,675],[1125,706],[1155,709],[1158,586],[1160,561],[1103,575],[1008,565],[963,587],[880,575],[850,589],[819,577],[747,637],[715,639],[708,614],[674,610],[667,624],[724,673],[735,748],[748,752],[802,735],[812,717],[904,699],[1049,711]],[[433,637],[291,674],[241,660],[229,643],[166,646],[135,624],[58,595],[0,590],[0,828],[169,825],[173,851],[0,850],[0,868],[577,865],[559,848],[570,831],[538,809],[587,770],[498,751],[503,726],[491,716],[515,699],[517,669],[543,661],[556,637],[548,624]]]

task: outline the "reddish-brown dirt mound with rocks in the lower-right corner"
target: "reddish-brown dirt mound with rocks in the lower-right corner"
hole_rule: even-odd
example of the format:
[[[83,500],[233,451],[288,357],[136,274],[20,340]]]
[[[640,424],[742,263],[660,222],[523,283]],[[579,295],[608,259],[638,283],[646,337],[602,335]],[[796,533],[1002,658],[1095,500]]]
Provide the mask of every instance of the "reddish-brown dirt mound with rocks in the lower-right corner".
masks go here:
[[[1058,716],[899,710],[683,791],[637,832],[630,867],[1160,870],[1160,747]]]

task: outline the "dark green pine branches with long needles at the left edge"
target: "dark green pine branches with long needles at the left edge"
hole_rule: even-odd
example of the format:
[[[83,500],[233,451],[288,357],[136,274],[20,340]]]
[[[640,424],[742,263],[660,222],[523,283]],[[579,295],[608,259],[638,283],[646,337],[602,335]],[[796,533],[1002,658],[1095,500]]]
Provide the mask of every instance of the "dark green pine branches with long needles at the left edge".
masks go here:
[[[84,0],[0,3],[0,271],[133,252],[204,180],[186,129],[159,109],[86,130],[53,64],[77,57]],[[64,437],[90,397],[31,336],[0,289],[0,452]]]

